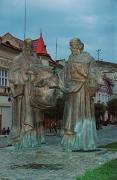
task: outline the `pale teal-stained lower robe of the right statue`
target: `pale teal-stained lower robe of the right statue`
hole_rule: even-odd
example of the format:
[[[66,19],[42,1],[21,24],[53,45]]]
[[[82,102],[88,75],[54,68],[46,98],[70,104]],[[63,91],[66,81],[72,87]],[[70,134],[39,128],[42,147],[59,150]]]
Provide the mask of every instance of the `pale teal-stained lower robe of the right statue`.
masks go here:
[[[95,119],[79,120],[74,132],[64,131],[62,146],[67,151],[94,151],[96,149]]]

